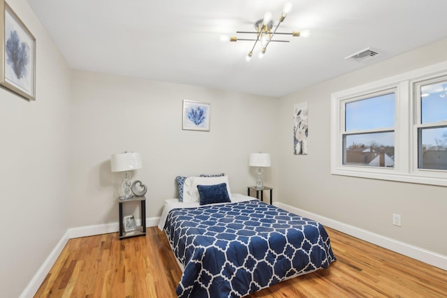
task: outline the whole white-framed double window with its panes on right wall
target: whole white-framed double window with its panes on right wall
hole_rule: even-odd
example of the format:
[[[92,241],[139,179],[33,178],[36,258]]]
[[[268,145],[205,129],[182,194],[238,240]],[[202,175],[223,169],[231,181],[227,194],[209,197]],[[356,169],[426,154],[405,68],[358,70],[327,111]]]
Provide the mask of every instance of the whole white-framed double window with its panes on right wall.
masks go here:
[[[332,174],[447,186],[447,62],[331,98]]]

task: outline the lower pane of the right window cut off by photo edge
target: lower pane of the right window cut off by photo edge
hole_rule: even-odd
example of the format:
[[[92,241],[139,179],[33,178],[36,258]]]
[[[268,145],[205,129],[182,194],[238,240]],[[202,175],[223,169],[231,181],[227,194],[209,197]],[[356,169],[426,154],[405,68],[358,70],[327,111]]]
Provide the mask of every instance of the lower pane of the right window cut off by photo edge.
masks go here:
[[[447,127],[419,128],[419,168],[447,170]]]

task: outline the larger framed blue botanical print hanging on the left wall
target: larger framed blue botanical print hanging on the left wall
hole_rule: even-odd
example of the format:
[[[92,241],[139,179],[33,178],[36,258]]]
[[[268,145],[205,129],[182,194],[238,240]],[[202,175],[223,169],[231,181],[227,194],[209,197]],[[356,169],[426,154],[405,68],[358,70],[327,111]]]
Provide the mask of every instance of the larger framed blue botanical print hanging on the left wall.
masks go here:
[[[0,85],[36,100],[36,38],[4,0],[0,9]]]

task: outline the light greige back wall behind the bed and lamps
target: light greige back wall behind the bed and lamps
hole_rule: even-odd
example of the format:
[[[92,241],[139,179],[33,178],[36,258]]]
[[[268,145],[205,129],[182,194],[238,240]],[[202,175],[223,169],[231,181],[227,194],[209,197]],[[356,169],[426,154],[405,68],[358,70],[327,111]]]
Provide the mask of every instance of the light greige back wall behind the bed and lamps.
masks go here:
[[[110,172],[110,156],[123,151],[142,154],[132,180],[149,189],[147,218],[178,198],[177,175],[225,172],[233,193],[247,193],[251,152],[272,154],[265,184],[277,186],[277,98],[81,70],[72,88],[71,227],[117,223],[122,177]],[[182,100],[211,103],[210,132],[182,130]],[[124,213],[140,217],[137,204]]]

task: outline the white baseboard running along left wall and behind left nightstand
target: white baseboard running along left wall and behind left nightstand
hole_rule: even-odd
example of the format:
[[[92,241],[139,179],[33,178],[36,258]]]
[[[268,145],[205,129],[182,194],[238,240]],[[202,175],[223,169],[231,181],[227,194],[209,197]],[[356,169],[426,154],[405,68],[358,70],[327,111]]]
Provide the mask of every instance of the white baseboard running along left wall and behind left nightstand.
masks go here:
[[[141,221],[138,219],[136,221],[137,225],[141,224]],[[154,227],[159,224],[159,217],[146,218],[146,227]],[[59,240],[56,246],[53,248],[52,252],[46,258],[43,265],[38,269],[36,274],[34,274],[33,278],[27,285],[20,295],[20,298],[32,298],[36,294],[37,290],[45,280],[48,272],[56,262],[57,258],[61,254],[65,245],[67,244],[69,239],[79,238],[79,237],[87,237],[98,234],[108,234],[113,232],[118,232],[119,223],[105,223],[103,225],[87,225],[85,227],[78,228],[70,228],[68,229],[64,236]]]

